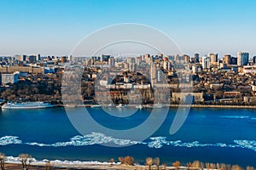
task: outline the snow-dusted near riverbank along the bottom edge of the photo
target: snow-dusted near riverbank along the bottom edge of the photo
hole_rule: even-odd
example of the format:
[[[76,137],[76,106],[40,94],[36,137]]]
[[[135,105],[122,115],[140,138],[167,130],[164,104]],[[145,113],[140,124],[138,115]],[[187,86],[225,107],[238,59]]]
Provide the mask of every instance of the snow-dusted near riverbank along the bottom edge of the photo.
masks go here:
[[[11,156],[9,156],[11,157]],[[16,159],[16,158],[15,158]],[[33,158],[32,158],[33,159]],[[151,163],[147,163],[145,165],[140,165],[140,164],[124,164],[120,162],[100,162],[100,161],[36,161],[33,159],[32,162],[26,165],[27,168],[29,169],[96,169],[96,170],[103,170],[103,169],[108,169],[108,170],[199,170],[199,169],[211,169],[211,170],[217,170],[217,169],[223,169],[223,170],[229,170],[229,169],[237,169],[237,170],[243,170],[243,169],[248,169],[248,170],[253,170],[254,167],[247,166],[246,168],[240,167],[239,165],[226,165],[224,163],[204,163],[201,161],[193,161],[187,163],[185,166],[183,166],[179,161],[175,161],[172,163],[172,166],[166,165],[166,164],[160,164],[160,160],[158,161],[159,163],[155,164],[154,159],[151,157],[148,157],[147,162],[150,162],[148,160],[152,160]],[[150,165],[150,167],[149,167]],[[6,161],[4,163],[4,167],[6,170],[17,170],[17,169],[22,169],[22,164],[17,161]]]

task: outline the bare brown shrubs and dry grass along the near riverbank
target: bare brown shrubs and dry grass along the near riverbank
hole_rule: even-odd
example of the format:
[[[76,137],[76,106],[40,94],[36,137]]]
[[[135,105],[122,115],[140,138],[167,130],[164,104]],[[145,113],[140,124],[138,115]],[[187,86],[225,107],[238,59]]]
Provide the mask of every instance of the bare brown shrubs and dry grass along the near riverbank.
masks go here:
[[[29,169],[37,169],[35,165],[32,163],[34,159],[32,156],[28,154],[20,154],[19,155],[19,161],[20,161],[20,169],[21,170],[29,170]],[[6,161],[6,156],[3,153],[0,153],[0,163],[1,163],[1,170],[6,170],[9,168],[7,164],[5,164]],[[165,170],[165,169],[172,169],[172,170],[201,170],[201,169],[207,169],[207,170],[212,170],[212,169],[218,169],[218,170],[254,170],[255,168],[252,166],[247,166],[246,168],[243,168],[239,165],[230,165],[230,164],[224,164],[224,163],[210,163],[210,162],[202,162],[202,161],[193,161],[189,162],[187,164],[182,164],[180,161],[174,161],[172,165],[167,165],[165,163],[160,162],[159,157],[147,157],[145,159],[144,165],[140,165],[138,163],[135,163],[135,160],[132,156],[125,156],[125,157],[119,157],[118,159],[119,164],[115,163],[115,160],[111,158],[108,162],[110,167],[108,169],[147,169],[147,170]],[[54,164],[51,164],[50,161],[45,161],[45,165],[39,165],[40,169],[45,169],[45,170],[52,170],[52,169],[76,169],[75,167],[66,167],[63,165],[62,167],[55,167]],[[83,165],[85,166],[85,165]],[[102,167],[101,167],[102,166]],[[104,167],[105,166],[105,167]],[[90,167],[90,169],[105,169],[107,168],[106,165],[100,165],[100,167]],[[13,169],[13,168],[11,168]],[[17,169],[17,168],[16,168]],[[88,169],[87,168],[81,168],[79,167],[78,169]]]

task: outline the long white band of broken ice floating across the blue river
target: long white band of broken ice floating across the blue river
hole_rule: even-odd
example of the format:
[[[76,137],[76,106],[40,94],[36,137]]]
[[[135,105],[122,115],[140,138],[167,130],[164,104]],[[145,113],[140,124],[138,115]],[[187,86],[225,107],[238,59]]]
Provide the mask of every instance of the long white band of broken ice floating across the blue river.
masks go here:
[[[71,138],[69,141],[56,142],[54,144],[43,144],[37,142],[22,142],[19,137],[16,136],[4,136],[0,138],[0,145],[7,144],[27,144],[39,147],[65,147],[65,146],[86,146],[93,144],[116,144],[119,146],[125,146],[128,144],[144,144],[149,148],[160,149],[166,145],[173,147],[222,147],[222,148],[244,148],[256,151],[256,140],[234,140],[233,144],[204,144],[199,141],[183,142],[182,140],[167,140],[166,137],[151,137],[145,142],[133,141],[130,139],[115,139],[111,136],[107,136],[102,133],[90,133],[84,136],[77,135]]]

